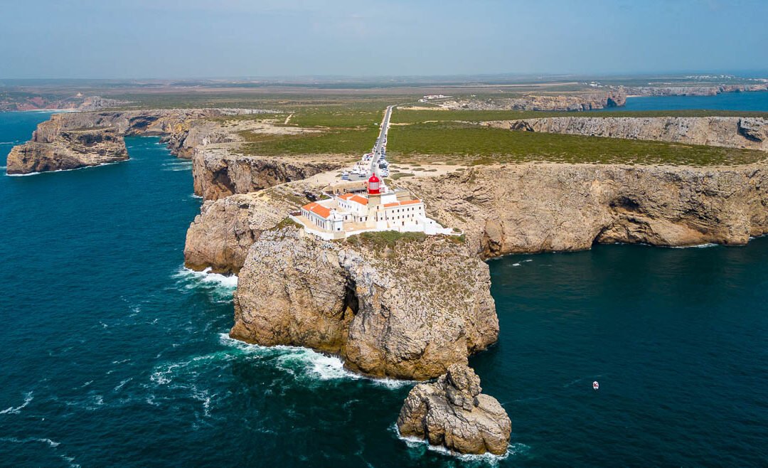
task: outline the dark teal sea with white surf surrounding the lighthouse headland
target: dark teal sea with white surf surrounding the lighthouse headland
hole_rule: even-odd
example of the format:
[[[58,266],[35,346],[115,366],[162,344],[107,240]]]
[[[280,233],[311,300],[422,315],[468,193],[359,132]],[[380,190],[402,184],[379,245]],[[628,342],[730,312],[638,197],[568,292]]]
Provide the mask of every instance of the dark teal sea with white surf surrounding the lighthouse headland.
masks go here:
[[[46,118],[0,114],[0,154]],[[397,438],[410,383],[227,338],[233,280],[182,268],[190,164],[127,144],[0,176],[2,466],[768,464],[766,238],[489,262],[502,331],[471,364],[512,444],[458,459]]]

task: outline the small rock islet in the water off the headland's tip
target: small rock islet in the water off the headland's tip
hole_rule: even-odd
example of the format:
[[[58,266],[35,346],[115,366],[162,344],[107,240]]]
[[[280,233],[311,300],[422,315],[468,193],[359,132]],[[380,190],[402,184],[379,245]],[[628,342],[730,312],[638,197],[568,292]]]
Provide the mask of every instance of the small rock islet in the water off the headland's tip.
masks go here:
[[[474,370],[452,365],[435,383],[412,388],[397,418],[400,435],[458,453],[503,455],[511,420],[498,400],[481,391]]]

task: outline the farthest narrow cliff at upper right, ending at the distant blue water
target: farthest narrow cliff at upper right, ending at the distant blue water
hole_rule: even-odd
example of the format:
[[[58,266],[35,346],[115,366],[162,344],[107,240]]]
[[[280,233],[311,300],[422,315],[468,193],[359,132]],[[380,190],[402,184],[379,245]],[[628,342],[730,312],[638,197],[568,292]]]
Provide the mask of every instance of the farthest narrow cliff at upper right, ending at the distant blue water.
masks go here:
[[[623,106],[627,94],[623,89],[581,95],[530,95],[519,98],[460,99],[445,101],[442,107],[473,111],[591,111]]]

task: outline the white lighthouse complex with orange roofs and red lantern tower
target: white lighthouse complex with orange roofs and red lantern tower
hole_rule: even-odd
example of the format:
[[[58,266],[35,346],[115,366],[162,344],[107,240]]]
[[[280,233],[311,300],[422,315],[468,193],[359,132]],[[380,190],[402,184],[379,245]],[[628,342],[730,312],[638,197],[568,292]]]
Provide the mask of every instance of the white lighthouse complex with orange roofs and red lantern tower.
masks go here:
[[[425,214],[424,202],[408,191],[392,191],[376,174],[368,180],[367,194],[346,193],[301,207],[293,221],[326,239],[340,239],[366,231],[451,234]]]

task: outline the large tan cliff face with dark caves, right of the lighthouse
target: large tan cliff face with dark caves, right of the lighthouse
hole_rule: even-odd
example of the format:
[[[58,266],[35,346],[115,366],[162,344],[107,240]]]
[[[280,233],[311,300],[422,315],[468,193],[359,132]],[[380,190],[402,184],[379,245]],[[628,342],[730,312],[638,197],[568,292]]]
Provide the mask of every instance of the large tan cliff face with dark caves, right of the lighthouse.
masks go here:
[[[764,164],[508,164],[402,184],[482,257],[614,242],[741,245],[768,233]]]

